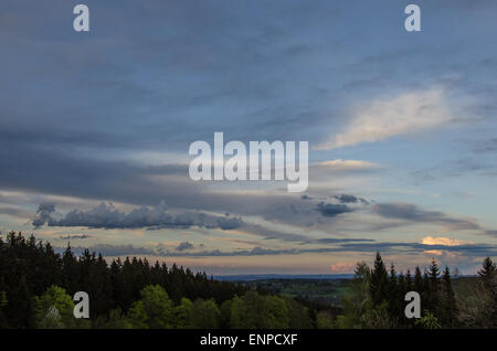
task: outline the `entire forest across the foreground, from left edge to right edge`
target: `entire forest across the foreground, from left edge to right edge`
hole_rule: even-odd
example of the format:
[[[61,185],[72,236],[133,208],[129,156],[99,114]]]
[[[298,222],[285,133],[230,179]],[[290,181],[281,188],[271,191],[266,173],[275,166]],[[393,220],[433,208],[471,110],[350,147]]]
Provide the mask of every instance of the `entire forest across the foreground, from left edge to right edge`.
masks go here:
[[[464,286],[463,294],[454,285]],[[89,296],[89,318],[73,315],[73,295]],[[421,318],[404,315],[408,291]],[[487,257],[475,278],[454,278],[435,260],[414,273],[387,268],[380,253],[358,263],[341,306],[215,280],[177,265],[101,254],[75,256],[68,245],[10,232],[0,236],[0,328],[14,329],[438,329],[497,328],[497,267]]]

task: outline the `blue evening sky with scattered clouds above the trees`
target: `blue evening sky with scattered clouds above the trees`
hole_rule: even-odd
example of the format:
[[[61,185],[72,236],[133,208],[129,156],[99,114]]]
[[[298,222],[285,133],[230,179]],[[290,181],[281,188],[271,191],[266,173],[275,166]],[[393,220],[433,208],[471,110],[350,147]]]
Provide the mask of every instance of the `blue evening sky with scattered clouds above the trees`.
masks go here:
[[[3,236],[214,275],[497,256],[497,2],[80,2],[0,6]],[[308,189],[191,180],[216,131],[308,141]]]

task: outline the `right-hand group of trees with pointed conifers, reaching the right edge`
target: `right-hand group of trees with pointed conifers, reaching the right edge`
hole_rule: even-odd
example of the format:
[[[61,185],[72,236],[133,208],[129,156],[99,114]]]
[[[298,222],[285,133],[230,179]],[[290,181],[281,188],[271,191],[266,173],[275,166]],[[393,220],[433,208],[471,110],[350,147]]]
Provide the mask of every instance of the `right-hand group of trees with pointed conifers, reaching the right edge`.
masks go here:
[[[497,328],[497,267],[485,258],[477,278],[457,278],[466,285],[465,294],[456,297],[454,279],[448,267],[441,269],[433,259],[422,273],[417,266],[412,274],[387,268],[380,253],[370,268],[358,263],[355,279],[342,301],[343,312],[324,312],[318,320],[329,328]],[[404,301],[408,291],[421,296],[421,318],[406,318]]]

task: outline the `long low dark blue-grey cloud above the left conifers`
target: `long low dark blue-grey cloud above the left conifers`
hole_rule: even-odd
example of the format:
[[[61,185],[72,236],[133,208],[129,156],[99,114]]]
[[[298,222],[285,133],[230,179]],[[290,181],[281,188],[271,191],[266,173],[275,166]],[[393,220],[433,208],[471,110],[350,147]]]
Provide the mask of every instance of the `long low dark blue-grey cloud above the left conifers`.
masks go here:
[[[216,217],[198,212],[172,214],[167,210],[163,202],[155,208],[136,208],[129,213],[116,209],[112,203],[101,203],[87,211],[73,210],[62,219],[55,220],[52,216],[55,212],[55,205],[42,203],[32,223],[35,227],[47,224],[49,226],[86,226],[91,228],[184,228],[200,226],[222,230],[233,230],[243,224],[241,217]]]

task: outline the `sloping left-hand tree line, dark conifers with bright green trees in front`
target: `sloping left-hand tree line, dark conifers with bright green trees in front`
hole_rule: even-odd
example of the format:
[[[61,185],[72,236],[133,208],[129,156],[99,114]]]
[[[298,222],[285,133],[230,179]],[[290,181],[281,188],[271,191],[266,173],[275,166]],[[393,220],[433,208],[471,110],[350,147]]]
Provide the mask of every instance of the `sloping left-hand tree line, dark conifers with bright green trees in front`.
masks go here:
[[[73,316],[74,292],[89,319]],[[0,328],[313,328],[308,308],[286,296],[214,280],[173,264],[63,254],[22,233],[0,237]]]

